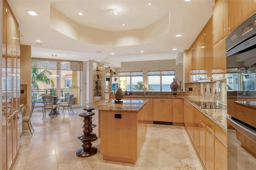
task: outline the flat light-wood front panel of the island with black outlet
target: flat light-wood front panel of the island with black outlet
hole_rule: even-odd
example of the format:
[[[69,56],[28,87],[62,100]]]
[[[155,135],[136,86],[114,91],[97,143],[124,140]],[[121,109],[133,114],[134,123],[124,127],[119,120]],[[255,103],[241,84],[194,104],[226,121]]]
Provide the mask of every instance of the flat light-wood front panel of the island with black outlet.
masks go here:
[[[115,118],[115,114],[120,114],[122,118]],[[104,160],[127,163],[136,161],[137,115],[138,112],[100,111],[100,153]]]

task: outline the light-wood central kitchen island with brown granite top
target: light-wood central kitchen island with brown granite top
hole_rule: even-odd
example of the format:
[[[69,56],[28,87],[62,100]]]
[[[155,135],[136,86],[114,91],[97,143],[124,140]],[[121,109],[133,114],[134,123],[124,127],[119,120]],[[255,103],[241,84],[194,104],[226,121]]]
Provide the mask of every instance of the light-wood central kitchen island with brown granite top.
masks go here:
[[[147,124],[147,100],[98,100],[87,105],[98,110],[100,153],[103,160],[135,164]]]

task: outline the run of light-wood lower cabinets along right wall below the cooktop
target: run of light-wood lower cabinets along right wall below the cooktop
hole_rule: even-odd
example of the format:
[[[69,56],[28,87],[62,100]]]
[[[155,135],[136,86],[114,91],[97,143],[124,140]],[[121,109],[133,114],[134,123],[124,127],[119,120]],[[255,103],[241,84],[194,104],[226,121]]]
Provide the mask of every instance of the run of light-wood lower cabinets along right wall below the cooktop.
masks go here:
[[[183,108],[185,127],[206,169],[227,170],[226,132],[186,100]]]

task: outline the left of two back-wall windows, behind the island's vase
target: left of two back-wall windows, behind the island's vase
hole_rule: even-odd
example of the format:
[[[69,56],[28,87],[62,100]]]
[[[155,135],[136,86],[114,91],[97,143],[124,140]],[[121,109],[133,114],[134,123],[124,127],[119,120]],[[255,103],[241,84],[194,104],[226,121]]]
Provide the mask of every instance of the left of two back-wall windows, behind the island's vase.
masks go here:
[[[118,72],[122,90],[137,91],[143,84],[143,71]]]

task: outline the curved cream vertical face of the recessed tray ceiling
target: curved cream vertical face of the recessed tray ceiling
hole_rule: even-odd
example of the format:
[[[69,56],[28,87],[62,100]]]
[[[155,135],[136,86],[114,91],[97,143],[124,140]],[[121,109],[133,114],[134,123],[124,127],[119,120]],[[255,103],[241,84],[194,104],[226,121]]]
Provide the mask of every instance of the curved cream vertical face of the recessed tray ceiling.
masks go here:
[[[156,41],[169,33],[170,12],[142,29],[105,31],[77,24],[52,5],[50,7],[50,27],[82,43],[110,47],[143,45]]]

